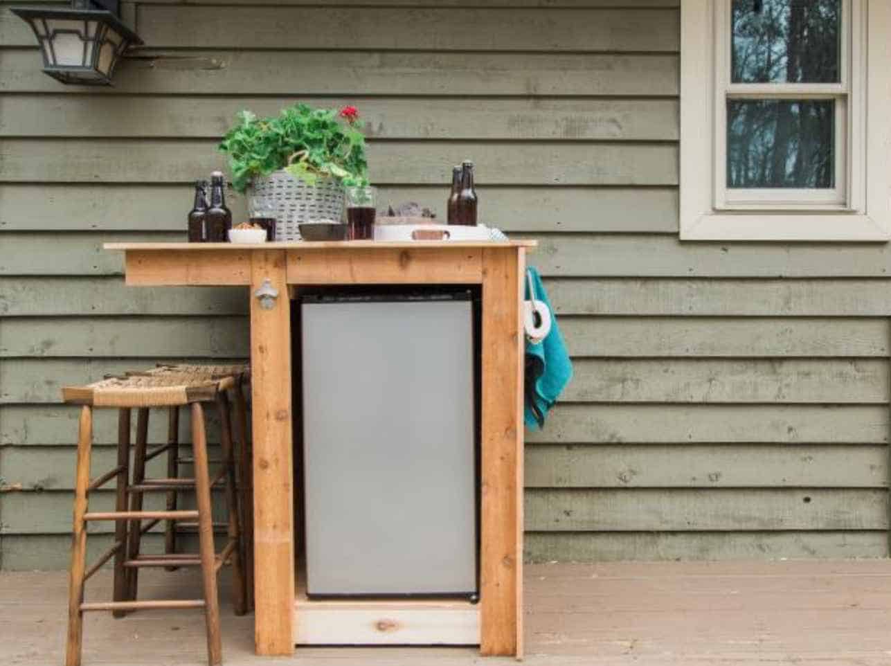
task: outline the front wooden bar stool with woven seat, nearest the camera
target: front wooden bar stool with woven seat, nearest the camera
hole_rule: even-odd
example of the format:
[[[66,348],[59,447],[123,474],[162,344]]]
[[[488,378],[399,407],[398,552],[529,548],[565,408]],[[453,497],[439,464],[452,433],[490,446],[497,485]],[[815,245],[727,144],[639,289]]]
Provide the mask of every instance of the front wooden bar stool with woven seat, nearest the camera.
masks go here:
[[[207,625],[208,663],[222,662],[222,645],[219,631],[219,604],[217,599],[217,571],[227,562],[233,565],[235,612],[245,611],[244,577],[239,553],[239,511],[235,493],[235,469],[233,443],[229,429],[225,392],[233,388],[233,380],[192,378],[185,380],[174,376],[116,377],[86,386],[62,389],[63,399],[71,404],[83,405],[78,432],[78,467],[74,500],[74,529],[71,543],[71,569],[69,572],[69,624],[66,645],[67,666],[79,666],[83,637],[83,613],[87,611],[111,611],[116,616],[138,609],[154,608],[203,608]],[[222,428],[221,447],[224,465],[210,477],[208,469],[207,434],[205,431],[204,403],[213,402],[220,407]],[[168,450],[170,444],[147,451],[148,414],[152,407],[183,407],[192,410],[192,451],[194,479],[146,479],[145,462]],[[94,407],[119,409],[118,465],[110,472],[90,480],[90,457],[93,445]],[[134,481],[128,482],[130,449],[130,411],[138,410],[136,446],[134,457]],[[115,510],[89,512],[89,493],[111,481],[117,480]],[[217,483],[225,483],[225,503],[228,512],[229,540],[219,555],[214,552],[213,516],[210,489]],[[196,509],[143,511],[143,494],[169,489],[195,490]],[[130,507],[127,509],[127,497]],[[144,521],[149,521],[143,525]],[[198,524],[199,553],[197,555],[165,554],[140,555],[139,537],[162,520],[195,521]],[[113,521],[115,542],[89,569],[86,568],[86,523]],[[129,525],[129,529],[127,529]],[[113,600],[110,602],[84,602],[84,585],[102,564],[114,557]],[[198,565],[201,568],[203,598],[186,600],[137,601],[136,571],[143,566]]]

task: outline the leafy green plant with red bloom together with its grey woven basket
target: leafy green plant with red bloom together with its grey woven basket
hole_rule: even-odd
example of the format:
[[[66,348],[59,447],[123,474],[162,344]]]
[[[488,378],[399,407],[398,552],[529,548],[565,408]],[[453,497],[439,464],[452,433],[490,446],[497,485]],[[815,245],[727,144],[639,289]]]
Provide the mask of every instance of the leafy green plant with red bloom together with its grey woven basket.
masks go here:
[[[347,185],[368,185],[365,136],[354,106],[294,104],[273,118],[241,111],[219,149],[229,155],[233,187],[278,212],[275,240],[299,238],[298,225],[340,220]]]

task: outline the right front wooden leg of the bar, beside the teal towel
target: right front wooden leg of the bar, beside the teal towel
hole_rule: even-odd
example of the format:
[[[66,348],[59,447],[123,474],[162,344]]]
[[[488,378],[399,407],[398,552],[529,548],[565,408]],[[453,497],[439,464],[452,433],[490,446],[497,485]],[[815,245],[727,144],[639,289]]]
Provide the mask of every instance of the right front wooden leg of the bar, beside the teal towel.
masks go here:
[[[524,253],[483,251],[480,652],[523,654]]]

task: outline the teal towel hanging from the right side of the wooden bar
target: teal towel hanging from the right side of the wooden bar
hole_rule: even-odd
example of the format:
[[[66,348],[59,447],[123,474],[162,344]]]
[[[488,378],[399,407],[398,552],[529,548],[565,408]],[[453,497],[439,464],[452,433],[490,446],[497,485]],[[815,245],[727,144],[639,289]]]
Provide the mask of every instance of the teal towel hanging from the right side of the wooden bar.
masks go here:
[[[543,341],[533,344],[526,340],[526,400],[525,421],[535,429],[544,428],[544,418],[550,411],[558,396],[566,388],[572,379],[572,362],[566,349],[566,343],[560,334],[560,326],[557,325],[557,317],[554,308],[548,300],[548,294],[544,291],[541,275],[534,267],[527,268],[532,277],[535,298],[543,300],[551,310],[551,331]],[[526,281],[526,298],[529,295],[529,283]]]

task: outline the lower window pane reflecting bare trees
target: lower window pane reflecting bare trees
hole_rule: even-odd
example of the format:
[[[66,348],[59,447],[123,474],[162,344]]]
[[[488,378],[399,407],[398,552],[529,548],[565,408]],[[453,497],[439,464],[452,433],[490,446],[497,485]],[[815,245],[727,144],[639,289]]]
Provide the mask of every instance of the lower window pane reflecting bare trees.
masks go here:
[[[727,100],[728,187],[835,187],[832,100]]]

